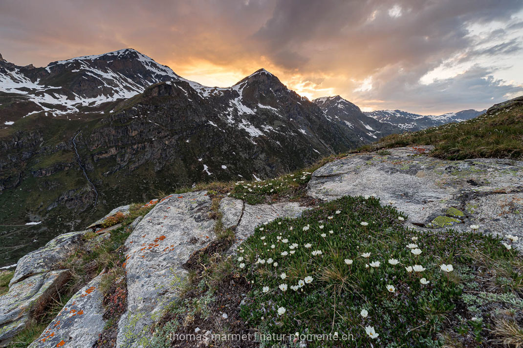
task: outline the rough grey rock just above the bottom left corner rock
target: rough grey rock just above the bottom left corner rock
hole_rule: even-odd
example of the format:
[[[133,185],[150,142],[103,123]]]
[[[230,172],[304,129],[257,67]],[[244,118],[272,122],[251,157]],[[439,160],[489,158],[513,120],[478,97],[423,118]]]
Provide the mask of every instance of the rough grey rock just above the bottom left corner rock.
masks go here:
[[[26,277],[50,271],[78,248],[86,231],[71,232],[55,237],[45,246],[22,257],[16,266],[15,274],[9,284],[14,284]]]

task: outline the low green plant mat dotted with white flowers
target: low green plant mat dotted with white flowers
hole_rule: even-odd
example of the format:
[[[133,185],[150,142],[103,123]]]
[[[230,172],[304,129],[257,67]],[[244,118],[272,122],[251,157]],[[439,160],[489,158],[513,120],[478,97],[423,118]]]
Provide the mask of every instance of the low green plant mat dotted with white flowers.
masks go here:
[[[258,226],[240,248],[238,257],[243,259],[236,262],[236,272],[254,284],[242,317],[265,333],[338,332],[354,338],[351,346],[439,347],[439,333],[447,331],[461,340],[485,343],[495,310],[523,310],[523,263],[514,249],[506,250],[500,239],[479,233],[405,229],[400,216],[405,217],[377,199],[346,196],[300,218]],[[297,247],[291,249],[293,243]],[[310,248],[305,247],[308,243]],[[422,253],[414,255],[406,247],[410,243]],[[322,253],[313,256],[315,250]],[[269,264],[269,258],[278,265]],[[399,264],[389,264],[389,259]],[[379,267],[367,266],[374,261]],[[408,273],[405,267],[415,264],[426,270]],[[454,270],[447,274],[441,264],[452,264]],[[311,284],[291,289],[308,276]],[[499,277],[509,285],[500,285]],[[422,278],[429,283],[421,284]],[[287,284],[287,291],[281,291],[281,284]],[[388,285],[394,291],[388,291]],[[278,315],[279,307],[286,308],[284,315]],[[362,309],[368,317],[361,316]],[[370,338],[366,327],[373,327],[379,337]],[[332,345],[316,341],[308,347]]]

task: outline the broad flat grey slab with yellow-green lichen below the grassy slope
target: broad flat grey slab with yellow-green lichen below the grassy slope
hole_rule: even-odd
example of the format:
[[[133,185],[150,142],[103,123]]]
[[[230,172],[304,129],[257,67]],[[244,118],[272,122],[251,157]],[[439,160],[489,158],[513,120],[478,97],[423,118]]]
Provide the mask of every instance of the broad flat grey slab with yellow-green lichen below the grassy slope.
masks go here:
[[[333,200],[373,195],[408,214],[411,224],[523,236],[523,163],[499,159],[448,161],[426,156],[430,147],[356,154],[316,170],[308,193]]]

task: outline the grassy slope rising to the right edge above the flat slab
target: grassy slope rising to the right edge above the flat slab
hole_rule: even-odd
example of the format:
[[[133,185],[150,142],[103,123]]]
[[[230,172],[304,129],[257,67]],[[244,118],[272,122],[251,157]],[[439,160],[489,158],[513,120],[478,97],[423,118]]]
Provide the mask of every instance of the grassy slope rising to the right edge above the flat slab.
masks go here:
[[[389,135],[358,151],[416,145],[434,145],[431,156],[451,160],[523,159],[523,106],[509,105],[465,122]]]

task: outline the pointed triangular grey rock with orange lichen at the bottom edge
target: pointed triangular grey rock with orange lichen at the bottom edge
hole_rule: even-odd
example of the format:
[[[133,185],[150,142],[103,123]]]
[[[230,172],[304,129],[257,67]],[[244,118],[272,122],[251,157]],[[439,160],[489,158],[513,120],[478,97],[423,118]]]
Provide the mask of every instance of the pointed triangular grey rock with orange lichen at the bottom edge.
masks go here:
[[[73,295],[29,348],[91,348],[105,326],[102,277],[98,275]]]

